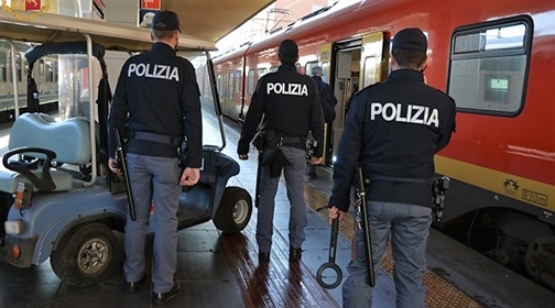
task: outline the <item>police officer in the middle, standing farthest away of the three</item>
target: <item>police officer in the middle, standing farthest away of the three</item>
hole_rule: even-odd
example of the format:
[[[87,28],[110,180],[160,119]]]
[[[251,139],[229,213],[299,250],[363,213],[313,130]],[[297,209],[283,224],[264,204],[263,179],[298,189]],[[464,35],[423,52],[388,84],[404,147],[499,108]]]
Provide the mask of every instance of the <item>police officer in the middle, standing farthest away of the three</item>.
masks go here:
[[[298,74],[297,44],[292,40],[280,43],[278,55],[281,66],[275,73],[260,78],[241,131],[237,153],[248,160],[249,144],[263,120],[266,148],[260,175],[260,204],[258,207],[257,242],[259,258],[270,261],[272,246],[274,197],[281,170],[284,170],[287,197],[291,202],[289,222],[290,260],[301,258],[305,240],[306,205],[304,201],[304,168],[306,138],[313,132],[317,146],[312,162],[322,161],[324,119],[318,89],[307,75]]]

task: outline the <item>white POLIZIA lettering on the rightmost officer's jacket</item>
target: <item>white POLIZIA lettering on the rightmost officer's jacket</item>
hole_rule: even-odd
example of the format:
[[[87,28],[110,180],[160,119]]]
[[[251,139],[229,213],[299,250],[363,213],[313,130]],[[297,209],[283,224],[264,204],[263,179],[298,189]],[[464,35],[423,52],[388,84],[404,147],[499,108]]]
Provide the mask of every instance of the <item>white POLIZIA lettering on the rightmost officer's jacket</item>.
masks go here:
[[[407,105],[403,108],[401,103],[372,102],[370,105],[370,120],[374,120],[378,116],[388,122],[406,122],[439,128],[439,112],[435,108],[431,109],[425,106]]]

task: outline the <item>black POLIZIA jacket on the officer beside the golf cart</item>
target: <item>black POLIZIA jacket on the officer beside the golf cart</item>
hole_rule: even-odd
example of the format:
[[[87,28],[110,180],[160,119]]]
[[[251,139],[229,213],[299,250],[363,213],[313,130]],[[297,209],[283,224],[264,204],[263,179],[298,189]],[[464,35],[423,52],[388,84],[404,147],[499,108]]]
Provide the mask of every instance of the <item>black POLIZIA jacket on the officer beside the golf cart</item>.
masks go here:
[[[200,167],[203,154],[200,91],[195,68],[167,44],[130,57],[118,79],[108,117],[109,155],[116,143],[113,129],[130,132],[128,153],[176,157],[177,146],[133,139],[134,132],[150,132],[172,139],[187,138],[187,166]],[[129,118],[128,118],[129,116]]]

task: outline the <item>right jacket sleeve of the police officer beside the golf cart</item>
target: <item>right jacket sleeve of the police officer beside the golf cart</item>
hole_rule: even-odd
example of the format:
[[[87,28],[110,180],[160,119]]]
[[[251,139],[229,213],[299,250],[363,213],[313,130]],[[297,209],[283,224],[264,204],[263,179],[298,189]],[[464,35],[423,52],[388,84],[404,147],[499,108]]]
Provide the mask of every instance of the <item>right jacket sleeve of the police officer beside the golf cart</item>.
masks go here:
[[[181,105],[183,127],[187,136],[187,167],[199,168],[203,161],[200,90],[195,69],[189,62],[186,62]]]

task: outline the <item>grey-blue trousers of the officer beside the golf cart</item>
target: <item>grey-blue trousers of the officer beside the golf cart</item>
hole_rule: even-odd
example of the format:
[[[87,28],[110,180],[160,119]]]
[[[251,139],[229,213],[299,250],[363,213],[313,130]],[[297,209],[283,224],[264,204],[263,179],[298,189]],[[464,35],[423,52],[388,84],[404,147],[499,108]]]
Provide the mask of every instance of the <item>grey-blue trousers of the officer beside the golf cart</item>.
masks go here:
[[[166,293],[174,285],[177,270],[177,210],[182,191],[178,160],[132,153],[126,157],[137,215],[132,221],[128,213],[126,223],[126,280],[137,282],[144,274],[145,234],[154,201],[152,292]]]

